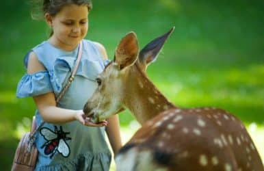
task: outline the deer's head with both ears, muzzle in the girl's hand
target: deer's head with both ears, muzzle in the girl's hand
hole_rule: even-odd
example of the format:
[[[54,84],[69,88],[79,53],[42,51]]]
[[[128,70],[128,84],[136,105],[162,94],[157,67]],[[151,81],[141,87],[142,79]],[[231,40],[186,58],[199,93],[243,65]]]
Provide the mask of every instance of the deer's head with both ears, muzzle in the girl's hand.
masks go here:
[[[92,122],[100,122],[127,108],[125,101],[137,89],[131,85],[137,81],[137,77],[144,75],[148,64],[155,61],[173,30],[174,27],[166,34],[155,38],[142,51],[139,51],[135,33],[130,32],[120,40],[114,53],[114,60],[98,75],[96,79],[98,88],[83,107],[85,115],[91,117]]]

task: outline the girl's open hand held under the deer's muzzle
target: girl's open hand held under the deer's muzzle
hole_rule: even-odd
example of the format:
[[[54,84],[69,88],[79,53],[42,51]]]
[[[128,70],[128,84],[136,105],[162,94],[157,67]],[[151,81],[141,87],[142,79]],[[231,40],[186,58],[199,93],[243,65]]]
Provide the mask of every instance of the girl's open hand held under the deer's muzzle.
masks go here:
[[[90,126],[90,127],[104,127],[107,126],[107,121],[103,120],[102,122],[98,122],[98,123],[93,123],[91,122],[90,118],[86,117],[83,113],[83,110],[78,110],[76,115],[75,115],[75,119],[78,120],[79,122],[81,122],[81,124],[85,125],[85,126]]]

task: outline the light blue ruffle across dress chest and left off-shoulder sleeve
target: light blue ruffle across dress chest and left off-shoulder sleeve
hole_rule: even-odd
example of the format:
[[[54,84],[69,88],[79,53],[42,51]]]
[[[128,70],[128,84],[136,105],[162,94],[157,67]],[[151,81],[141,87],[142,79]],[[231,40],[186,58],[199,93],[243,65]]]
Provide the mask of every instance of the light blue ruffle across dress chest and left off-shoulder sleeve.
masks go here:
[[[23,98],[27,96],[37,96],[47,92],[59,94],[65,85],[70,73],[75,67],[76,57],[60,56],[54,62],[53,70],[48,73],[46,70],[25,74],[18,83],[16,96]],[[106,65],[109,61],[106,60]],[[90,81],[95,81],[99,73],[103,71],[103,67],[99,61],[90,61],[88,59],[81,60],[76,75],[85,77]]]

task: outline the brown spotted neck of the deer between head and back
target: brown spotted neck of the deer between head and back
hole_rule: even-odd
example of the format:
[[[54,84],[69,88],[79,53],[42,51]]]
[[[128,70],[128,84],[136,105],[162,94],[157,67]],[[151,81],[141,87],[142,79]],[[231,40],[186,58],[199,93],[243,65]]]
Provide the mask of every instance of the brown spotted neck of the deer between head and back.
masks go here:
[[[140,124],[157,116],[161,111],[175,107],[157,90],[137,65],[127,75],[124,105]]]

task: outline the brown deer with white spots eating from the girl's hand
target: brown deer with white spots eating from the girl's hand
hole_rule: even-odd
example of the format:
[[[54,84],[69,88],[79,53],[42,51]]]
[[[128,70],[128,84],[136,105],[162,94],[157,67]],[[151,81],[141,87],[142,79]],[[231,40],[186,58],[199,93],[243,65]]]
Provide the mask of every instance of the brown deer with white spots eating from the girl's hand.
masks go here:
[[[141,127],[115,156],[118,171],[263,171],[263,162],[243,122],[215,107],[179,108],[148,79],[174,27],[141,51],[133,31],[125,35],[96,78],[98,87],[83,107],[100,122],[129,109]]]

